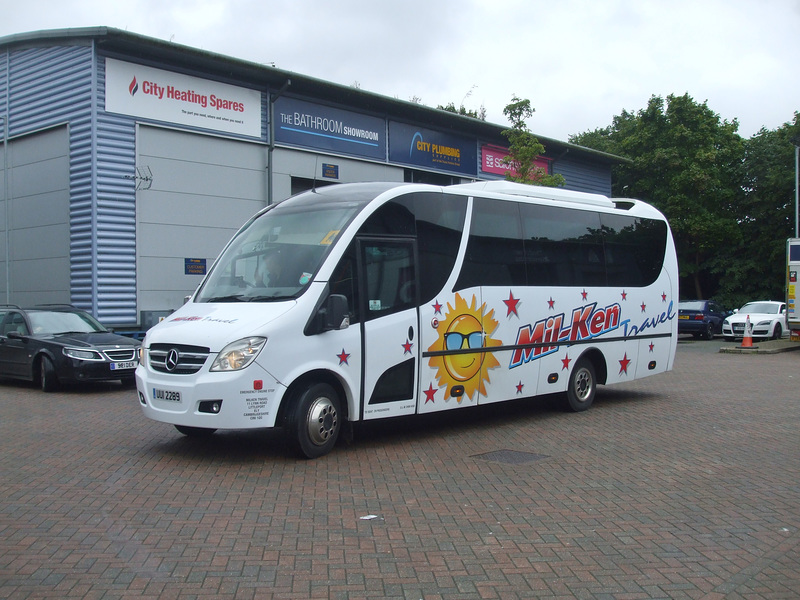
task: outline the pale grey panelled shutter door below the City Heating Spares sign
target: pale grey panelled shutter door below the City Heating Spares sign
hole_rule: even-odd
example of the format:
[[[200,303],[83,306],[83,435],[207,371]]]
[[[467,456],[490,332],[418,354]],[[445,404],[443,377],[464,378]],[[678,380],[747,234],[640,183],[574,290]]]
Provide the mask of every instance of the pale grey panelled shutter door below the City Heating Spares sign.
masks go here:
[[[266,205],[263,144],[140,125],[137,167],[150,189],[136,194],[139,310],[172,310],[201,277],[184,259],[211,267],[231,236]]]

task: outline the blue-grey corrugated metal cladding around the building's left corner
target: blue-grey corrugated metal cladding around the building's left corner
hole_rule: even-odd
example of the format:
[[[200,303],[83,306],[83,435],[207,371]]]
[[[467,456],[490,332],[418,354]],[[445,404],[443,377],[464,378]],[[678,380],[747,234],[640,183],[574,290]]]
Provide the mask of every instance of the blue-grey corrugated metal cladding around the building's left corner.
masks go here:
[[[133,120],[103,112],[104,63],[92,46],[20,50],[6,60],[9,135],[69,126],[71,301],[103,322],[135,324]]]

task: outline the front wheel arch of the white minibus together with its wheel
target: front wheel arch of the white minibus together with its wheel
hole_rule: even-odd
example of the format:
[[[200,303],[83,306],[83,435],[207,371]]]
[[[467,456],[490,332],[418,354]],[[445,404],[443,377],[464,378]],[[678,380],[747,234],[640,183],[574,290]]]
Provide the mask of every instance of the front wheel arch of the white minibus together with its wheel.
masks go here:
[[[276,422],[282,423],[288,446],[305,458],[328,454],[346,427],[344,388],[331,373],[317,371],[293,382],[284,395]]]

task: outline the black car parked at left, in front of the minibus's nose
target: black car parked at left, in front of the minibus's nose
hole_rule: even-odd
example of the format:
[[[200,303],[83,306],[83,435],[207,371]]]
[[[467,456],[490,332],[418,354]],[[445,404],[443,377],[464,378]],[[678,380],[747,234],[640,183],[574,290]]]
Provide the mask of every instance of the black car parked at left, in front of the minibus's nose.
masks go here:
[[[34,381],[45,392],[65,382],[132,385],[140,345],[72,306],[0,305],[0,377]]]

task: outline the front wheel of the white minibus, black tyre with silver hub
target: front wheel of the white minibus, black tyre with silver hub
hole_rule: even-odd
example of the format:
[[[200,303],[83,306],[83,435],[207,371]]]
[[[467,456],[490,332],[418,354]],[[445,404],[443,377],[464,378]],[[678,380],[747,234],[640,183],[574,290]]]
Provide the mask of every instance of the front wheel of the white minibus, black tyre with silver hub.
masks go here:
[[[343,417],[336,390],[327,383],[310,385],[288,407],[284,420],[287,442],[306,458],[324,456],[336,445]]]

